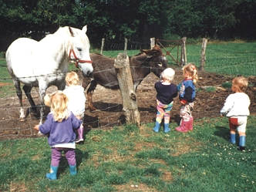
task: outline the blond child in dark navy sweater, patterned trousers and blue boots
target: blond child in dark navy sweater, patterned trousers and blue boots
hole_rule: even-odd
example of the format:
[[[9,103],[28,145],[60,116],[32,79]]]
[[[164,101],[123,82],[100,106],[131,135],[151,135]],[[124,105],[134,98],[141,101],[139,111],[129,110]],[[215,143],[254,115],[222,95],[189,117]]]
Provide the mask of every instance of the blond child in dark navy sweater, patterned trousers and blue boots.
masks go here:
[[[163,122],[163,132],[170,131],[170,110],[173,108],[173,98],[177,96],[177,86],[171,83],[173,81],[175,72],[171,68],[164,69],[161,73],[161,81],[155,83],[157,90],[157,118],[153,131],[158,133],[160,124]]]

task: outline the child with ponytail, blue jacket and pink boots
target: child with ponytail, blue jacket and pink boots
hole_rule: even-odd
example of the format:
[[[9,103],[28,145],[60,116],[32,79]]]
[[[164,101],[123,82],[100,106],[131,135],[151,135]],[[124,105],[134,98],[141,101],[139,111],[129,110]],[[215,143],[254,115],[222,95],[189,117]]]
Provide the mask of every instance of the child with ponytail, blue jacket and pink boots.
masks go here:
[[[194,63],[188,63],[183,68],[184,80],[178,85],[180,91],[180,126],[176,127],[175,130],[187,133],[189,130],[193,130],[193,116],[192,111],[194,109],[194,99],[196,98],[197,83],[197,68]]]

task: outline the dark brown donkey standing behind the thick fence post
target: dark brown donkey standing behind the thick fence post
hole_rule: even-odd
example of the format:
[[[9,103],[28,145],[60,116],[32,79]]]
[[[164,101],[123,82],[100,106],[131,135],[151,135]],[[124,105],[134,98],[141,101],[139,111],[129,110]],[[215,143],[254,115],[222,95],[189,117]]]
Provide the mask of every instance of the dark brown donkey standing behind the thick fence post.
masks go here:
[[[91,111],[96,110],[93,106],[93,91],[96,89],[97,83],[109,89],[119,89],[119,83],[114,67],[115,58],[109,58],[96,53],[91,53],[90,58],[93,61],[93,79],[84,77],[83,88],[87,89],[88,106]],[[167,68],[167,59],[158,47],[149,50],[140,50],[136,56],[129,57],[130,72],[133,78],[134,90],[140,85],[142,80],[153,72],[160,77],[160,73]]]

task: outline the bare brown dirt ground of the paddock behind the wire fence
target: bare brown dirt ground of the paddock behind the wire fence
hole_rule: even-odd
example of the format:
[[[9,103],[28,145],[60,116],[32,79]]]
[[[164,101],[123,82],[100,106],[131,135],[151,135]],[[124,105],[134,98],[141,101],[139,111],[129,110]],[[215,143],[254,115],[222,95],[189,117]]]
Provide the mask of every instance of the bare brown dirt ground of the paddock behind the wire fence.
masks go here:
[[[182,71],[175,69],[176,75],[173,83],[178,84],[182,81]],[[77,71],[82,83],[82,72]],[[194,120],[203,117],[218,117],[224,101],[231,89],[224,88],[223,83],[231,83],[233,79],[230,76],[222,76],[209,72],[198,72],[199,81],[197,83],[197,96],[194,104]],[[154,123],[156,116],[156,91],[154,83],[159,80],[152,72],[148,75],[137,88],[137,103],[140,111],[140,123]],[[255,95],[256,78],[248,77],[249,85],[246,93],[251,99],[251,115],[256,113]],[[2,85],[5,86],[5,85]],[[2,87],[1,86],[1,87]],[[1,88],[0,88],[1,89]],[[56,90],[55,86],[47,89],[46,93]],[[39,94],[36,89],[32,89],[32,97],[39,106]],[[25,122],[19,120],[19,99],[17,96],[7,96],[0,98],[0,140],[19,139],[37,137],[37,131],[33,130],[35,124],[40,121],[40,116],[33,116],[29,113],[30,105],[28,99],[23,96],[22,102],[27,112]],[[93,93],[93,104],[96,111],[90,112],[86,103],[86,112],[84,126],[86,130],[111,129],[113,126],[121,126],[125,123],[125,117],[122,112],[122,98],[120,90],[106,89],[103,86],[96,86]],[[39,108],[39,107],[38,107]],[[39,111],[39,109],[38,109]],[[170,128],[173,130],[179,122],[180,104],[178,98],[174,99],[173,109],[171,111]],[[49,108],[45,109],[49,113]],[[195,122],[197,123],[197,121]]]

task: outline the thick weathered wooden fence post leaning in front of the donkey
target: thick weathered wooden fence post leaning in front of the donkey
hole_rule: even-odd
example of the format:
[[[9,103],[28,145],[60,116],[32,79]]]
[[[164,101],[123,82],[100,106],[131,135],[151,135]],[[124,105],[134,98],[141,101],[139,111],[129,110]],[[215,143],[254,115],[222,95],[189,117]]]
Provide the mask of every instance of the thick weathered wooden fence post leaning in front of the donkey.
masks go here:
[[[115,60],[114,66],[123,99],[123,112],[126,116],[126,124],[140,126],[140,113],[130,73],[129,57],[124,53],[120,53]]]

